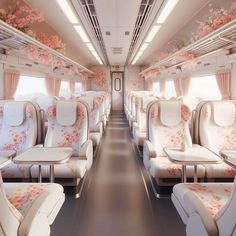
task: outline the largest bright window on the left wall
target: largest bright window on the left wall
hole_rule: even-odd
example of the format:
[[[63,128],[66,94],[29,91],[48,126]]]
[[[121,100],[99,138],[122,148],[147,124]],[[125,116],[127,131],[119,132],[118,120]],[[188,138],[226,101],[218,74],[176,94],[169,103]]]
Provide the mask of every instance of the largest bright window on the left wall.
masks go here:
[[[22,75],[14,98],[15,100],[32,100],[47,95],[44,78]]]

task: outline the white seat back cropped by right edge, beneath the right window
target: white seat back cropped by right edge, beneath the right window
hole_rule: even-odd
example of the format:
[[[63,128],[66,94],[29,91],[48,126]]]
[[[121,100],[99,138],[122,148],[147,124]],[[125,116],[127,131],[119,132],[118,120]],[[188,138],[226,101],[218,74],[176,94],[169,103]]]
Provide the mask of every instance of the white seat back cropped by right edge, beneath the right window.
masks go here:
[[[216,153],[236,148],[236,101],[209,101],[201,106],[199,142]]]

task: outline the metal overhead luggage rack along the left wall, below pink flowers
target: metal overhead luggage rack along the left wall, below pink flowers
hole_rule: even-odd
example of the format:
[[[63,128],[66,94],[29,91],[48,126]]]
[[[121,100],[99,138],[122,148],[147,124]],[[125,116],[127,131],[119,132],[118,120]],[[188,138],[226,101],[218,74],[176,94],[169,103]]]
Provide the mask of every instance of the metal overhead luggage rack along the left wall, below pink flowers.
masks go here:
[[[23,32],[11,27],[2,20],[0,20],[0,47],[9,49],[15,54],[20,54],[20,48],[25,45],[34,45],[40,49],[46,50],[52,54],[56,59],[63,60],[65,62],[65,67],[77,66],[80,71],[87,72],[93,75],[94,72],[87,69],[86,67],[80,65],[79,63],[73,61],[72,59],[64,56],[63,54],[57,52],[56,50],[40,43],[38,40],[24,34]]]

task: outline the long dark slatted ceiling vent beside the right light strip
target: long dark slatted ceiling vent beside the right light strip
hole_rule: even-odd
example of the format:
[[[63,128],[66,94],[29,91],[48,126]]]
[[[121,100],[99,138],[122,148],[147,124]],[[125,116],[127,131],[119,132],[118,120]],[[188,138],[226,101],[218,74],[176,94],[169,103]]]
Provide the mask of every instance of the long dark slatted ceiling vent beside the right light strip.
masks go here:
[[[151,10],[154,6],[153,3],[154,3],[153,0],[142,0],[142,2],[141,2],[141,5],[139,7],[138,18],[136,19],[136,22],[135,22],[132,41],[131,41],[131,45],[129,48],[128,57],[126,59],[126,63],[129,61],[129,59],[133,53],[134,47],[137,44],[137,41],[140,38],[141,33],[144,29],[144,25],[145,25],[148,17],[150,16]]]

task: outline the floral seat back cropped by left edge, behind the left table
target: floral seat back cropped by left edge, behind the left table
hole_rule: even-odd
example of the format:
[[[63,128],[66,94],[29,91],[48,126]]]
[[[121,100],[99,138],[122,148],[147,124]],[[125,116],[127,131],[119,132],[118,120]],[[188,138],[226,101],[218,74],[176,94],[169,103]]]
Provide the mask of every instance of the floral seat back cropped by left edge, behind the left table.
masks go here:
[[[0,108],[0,150],[17,154],[37,142],[39,117],[36,107],[26,101],[3,101]]]

